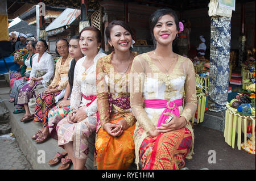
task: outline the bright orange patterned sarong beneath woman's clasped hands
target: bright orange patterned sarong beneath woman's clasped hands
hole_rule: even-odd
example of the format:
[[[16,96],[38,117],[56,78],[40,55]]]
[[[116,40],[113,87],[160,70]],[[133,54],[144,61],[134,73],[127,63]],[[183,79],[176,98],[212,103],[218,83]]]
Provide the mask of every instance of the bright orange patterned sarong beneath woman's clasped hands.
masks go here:
[[[123,118],[112,120],[110,123],[116,124]],[[125,170],[129,168],[135,158],[134,129],[135,124],[123,131],[121,136],[113,137],[102,127],[100,128],[95,142],[98,170]]]

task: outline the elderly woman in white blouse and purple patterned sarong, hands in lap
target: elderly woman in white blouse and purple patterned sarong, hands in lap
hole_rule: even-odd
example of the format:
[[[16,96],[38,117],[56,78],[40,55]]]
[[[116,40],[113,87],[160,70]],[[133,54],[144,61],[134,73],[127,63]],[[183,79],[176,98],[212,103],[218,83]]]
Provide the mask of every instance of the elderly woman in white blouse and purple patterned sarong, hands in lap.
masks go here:
[[[20,121],[29,121],[34,119],[28,108],[28,102],[35,95],[35,88],[37,85],[47,87],[54,73],[53,59],[50,54],[46,52],[48,45],[46,41],[39,40],[36,43],[36,53],[34,55],[32,69],[30,73],[30,81],[26,83],[20,90],[18,96],[18,105],[24,106],[26,113]]]

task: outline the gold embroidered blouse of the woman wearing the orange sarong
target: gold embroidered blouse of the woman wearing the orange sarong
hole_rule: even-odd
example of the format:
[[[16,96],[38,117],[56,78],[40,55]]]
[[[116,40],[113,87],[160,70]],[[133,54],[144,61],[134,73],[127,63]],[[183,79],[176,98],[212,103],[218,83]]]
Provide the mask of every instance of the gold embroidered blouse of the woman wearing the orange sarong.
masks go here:
[[[114,72],[114,66],[111,64],[113,52],[108,56],[98,59],[96,75],[97,75],[97,104],[100,116],[101,126],[110,120],[125,117],[129,127],[135,123],[135,117],[131,112],[131,108],[123,109],[116,105],[112,105],[112,113],[109,113],[109,94],[113,99],[129,96],[129,77],[128,74]]]

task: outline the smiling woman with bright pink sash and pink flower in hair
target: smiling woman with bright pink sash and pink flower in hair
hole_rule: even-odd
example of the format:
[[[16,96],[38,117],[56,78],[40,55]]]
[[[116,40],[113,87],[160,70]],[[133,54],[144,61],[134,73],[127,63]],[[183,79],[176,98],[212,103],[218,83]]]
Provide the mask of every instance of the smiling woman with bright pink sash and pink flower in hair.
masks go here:
[[[155,11],[150,27],[156,48],[135,57],[131,68],[139,82],[131,92],[131,108],[137,119],[135,163],[141,161],[142,169],[181,169],[193,153],[189,120],[197,107],[195,72],[188,58],[172,52],[180,25],[175,11]]]

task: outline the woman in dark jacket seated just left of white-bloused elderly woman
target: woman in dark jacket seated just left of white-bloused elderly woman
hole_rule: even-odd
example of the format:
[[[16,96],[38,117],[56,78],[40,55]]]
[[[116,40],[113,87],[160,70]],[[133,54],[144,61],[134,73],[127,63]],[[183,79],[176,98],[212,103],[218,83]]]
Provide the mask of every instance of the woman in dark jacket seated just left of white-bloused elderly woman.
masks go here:
[[[30,77],[30,72],[32,69],[32,57],[36,53],[36,48],[35,48],[36,42],[37,41],[28,41],[28,43],[27,43],[28,53],[26,54],[26,56],[24,56],[22,69],[20,71],[21,79],[13,81],[14,85],[13,85],[13,89],[11,89],[11,94],[10,94],[10,97],[11,97],[11,99],[13,99],[14,105],[16,106],[13,113],[25,112],[23,106],[18,106],[16,104],[18,102],[19,89],[26,84],[26,82],[28,81],[28,79]]]

